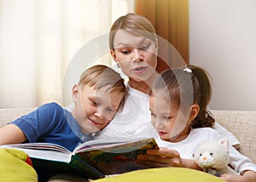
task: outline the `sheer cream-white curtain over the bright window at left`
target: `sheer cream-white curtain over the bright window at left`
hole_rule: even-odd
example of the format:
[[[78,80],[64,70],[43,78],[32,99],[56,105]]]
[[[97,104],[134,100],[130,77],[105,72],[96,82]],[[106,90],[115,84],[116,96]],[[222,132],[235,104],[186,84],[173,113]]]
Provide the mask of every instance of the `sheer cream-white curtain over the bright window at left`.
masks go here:
[[[131,0],[0,0],[0,108],[62,105],[73,55],[133,9]]]

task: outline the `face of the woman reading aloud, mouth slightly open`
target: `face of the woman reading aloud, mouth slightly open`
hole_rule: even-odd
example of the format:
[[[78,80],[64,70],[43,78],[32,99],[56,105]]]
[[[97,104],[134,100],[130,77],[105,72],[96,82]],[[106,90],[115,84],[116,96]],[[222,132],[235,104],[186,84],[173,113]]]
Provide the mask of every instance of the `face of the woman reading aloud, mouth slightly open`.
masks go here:
[[[145,82],[154,76],[157,65],[157,41],[119,30],[113,38],[113,47],[113,60],[130,79]]]

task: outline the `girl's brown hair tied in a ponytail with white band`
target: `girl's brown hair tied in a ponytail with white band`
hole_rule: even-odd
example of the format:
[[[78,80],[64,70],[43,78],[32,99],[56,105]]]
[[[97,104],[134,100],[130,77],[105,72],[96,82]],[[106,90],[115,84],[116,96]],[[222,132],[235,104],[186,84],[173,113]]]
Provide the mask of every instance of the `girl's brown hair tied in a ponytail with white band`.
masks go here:
[[[154,82],[152,94],[168,90],[166,100],[177,105],[181,110],[188,110],[190,105],[199,105],[200,111],[192,121],[192,128],[212,127],[215,120],[207,105],[212,97],[210,75],[199,66],[188,65],[184,69],[173,69],[162,72]]]

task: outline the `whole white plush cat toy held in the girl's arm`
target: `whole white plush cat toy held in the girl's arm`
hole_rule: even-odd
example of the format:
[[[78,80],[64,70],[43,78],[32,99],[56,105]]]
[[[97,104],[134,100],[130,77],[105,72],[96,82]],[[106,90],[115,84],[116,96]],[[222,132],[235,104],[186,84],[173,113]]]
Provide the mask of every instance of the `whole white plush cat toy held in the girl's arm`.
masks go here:
[[[235,173],[229,167],[229,141],[228,139],[207,140],[195,151],[195,162],[205,172],[220,176],[223,173]]]

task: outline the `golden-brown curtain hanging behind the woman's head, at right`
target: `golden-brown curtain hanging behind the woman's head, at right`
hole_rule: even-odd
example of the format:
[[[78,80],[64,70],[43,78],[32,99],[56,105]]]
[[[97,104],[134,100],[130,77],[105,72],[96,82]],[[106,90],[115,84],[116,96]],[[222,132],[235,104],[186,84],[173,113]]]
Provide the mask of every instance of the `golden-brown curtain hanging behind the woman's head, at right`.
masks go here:
[[[136,13],[146,16],[162,38],[158,71],[189,63],[188,0],[137,0]]]

